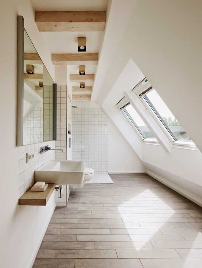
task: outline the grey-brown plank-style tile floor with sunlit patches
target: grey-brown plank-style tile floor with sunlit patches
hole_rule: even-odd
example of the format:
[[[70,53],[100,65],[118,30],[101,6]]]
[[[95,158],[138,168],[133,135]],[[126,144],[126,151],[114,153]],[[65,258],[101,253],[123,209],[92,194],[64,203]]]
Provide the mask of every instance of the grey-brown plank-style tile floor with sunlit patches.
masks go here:
[[[202,208],[146,174],[71,190],[34,268],[202,267]]]

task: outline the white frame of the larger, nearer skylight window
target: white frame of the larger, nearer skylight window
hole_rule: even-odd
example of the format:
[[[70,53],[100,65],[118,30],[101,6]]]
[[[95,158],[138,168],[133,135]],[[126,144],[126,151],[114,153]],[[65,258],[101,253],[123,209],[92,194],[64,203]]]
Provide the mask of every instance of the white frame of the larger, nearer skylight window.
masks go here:
[[[167,129],[167,127],[165,127],[165,125],[162,123],[162,121],[160,120],[160,118],[158,118],[158,115],[155,113],[155,111],[150,107],[149,103],[147,103],[147,101],[145,99],[143,99],[141,96],[139,96],[140,94],[142,94],[142,96],[146,95],[147,92],[149,92],[149,90],[151,90],[153,87],[152,85],[149,83],[147,78],[144,78],[142,81],[140,81],[139,84],[137,84],[133,89],[132,92],[138,96],[138,98],[141,100],[141,102],[143,103],[143,105],[145,106],[145,108],[147,109],[148,113],[150,115],[152,115],[152,117],[154,118],[154,120],[158,123],[158,126],[163,130],[164,134],[167,136],[167,138],[169,139],[169,141],[172,143],[172,145],[177,145],[178,146],[187,146],[187,147],[192,147],[192,148],[196,148],[196,145],[194,144],[193,141],[175,141],[175,139],[173,138],[172,134],[169,132],[169,130]],[[149,90],[148,90],[149,89]],[[154,88],[153,88],[154,89]],[[145,92],[146,91],[146,92]],[[145,93],[144,93],[145,92]],[[154,107],[155,108],[155,107]],[[169,108],[168,108],[169,109]]]

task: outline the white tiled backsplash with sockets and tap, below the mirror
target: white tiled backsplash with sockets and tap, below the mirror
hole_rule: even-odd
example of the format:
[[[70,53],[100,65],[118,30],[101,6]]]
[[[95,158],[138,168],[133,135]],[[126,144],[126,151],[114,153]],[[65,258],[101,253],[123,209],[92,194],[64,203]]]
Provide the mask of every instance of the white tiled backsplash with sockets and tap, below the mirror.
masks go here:
[[[24,145],[19,147],[19,197],[21,197],[34,184],[34,170],[50,159],[55,159],[55,152],[39,153],[39,148],[44,145],[55,147],[55,141]],[[26,153],[34,152],[34,159],[26,163]]]

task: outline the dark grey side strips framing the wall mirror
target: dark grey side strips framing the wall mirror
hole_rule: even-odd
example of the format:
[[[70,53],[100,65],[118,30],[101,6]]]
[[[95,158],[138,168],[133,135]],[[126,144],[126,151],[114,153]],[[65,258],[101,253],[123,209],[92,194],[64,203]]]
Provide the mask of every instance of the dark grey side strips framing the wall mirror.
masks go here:
[[[24,18],[23,16],[17,16],[16,146],[23,146],[23,100],[24,100]],[[53,141],[56,141],[56,138],[57,138],[57,84],[53,83]]]

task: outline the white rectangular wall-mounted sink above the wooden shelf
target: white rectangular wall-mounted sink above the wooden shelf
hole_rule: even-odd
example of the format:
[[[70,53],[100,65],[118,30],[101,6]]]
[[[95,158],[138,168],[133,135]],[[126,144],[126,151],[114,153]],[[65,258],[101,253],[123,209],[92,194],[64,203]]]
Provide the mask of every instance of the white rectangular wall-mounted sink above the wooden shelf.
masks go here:
[[[34,171],[34,182],[80,184],[84,181],[84,170],[84,161],[49,160]]]

